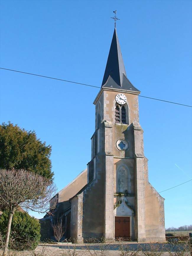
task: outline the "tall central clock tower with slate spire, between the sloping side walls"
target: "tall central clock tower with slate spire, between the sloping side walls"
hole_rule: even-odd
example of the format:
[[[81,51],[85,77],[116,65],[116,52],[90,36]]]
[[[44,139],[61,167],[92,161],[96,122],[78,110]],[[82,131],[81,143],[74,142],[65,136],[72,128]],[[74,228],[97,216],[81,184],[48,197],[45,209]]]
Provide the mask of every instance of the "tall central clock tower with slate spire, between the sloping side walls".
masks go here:
[[[102,87],[94,101],[97,134],[100,132],[100,123],[105,127],[105,237],[108,239],[116,236],[114,208],[117,208],[123,199],[131,206],[129,221],[132,221],[132,234],[127,236],[138,237],[138,234],[134,234],[137,224],[143,232],[141,236],[145,237],[144,154],[143,132],[139,125],[139,93],[140,91],[126,77],[115,28]],[[121,234],[124,235],[126,234]]]

